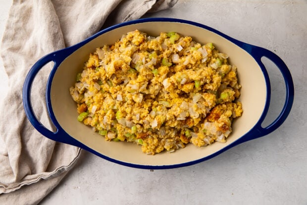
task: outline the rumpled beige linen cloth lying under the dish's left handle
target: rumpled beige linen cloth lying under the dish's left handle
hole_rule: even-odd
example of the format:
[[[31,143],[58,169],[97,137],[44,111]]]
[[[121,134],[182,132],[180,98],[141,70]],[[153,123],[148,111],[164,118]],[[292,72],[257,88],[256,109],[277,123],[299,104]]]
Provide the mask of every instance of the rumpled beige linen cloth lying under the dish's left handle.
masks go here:
[[[1,42],[9,90],[0,102],[0,204],[38,204],[74,166],[79,148],[56,143],[25,116],[22,87],[31,66],[52,51],[72,46],[102,26],[172,7],[177,0],[13,0]],[[52,65],[32,86],[38,119],[52,130],[45,87]]]

